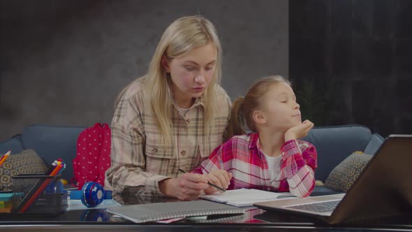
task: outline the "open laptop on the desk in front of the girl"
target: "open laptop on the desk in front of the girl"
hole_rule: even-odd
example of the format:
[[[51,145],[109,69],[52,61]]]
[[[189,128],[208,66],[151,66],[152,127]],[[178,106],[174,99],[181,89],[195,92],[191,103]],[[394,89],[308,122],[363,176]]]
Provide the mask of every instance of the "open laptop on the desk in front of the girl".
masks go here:
[[[346,194],[254,203],[329,224],[412,212],[412,135],[390,135]]]

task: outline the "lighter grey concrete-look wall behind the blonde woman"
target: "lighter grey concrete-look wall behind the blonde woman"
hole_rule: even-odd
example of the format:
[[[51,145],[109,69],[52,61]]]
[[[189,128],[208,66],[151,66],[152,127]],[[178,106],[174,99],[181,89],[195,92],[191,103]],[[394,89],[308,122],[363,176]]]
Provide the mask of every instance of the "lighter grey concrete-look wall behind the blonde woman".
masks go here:
[[[223,45],[232,99],[254,79],[288,76],[288,1],[1,1],[0,141],[29,124],[110,122],[164,29],[200,13]]]

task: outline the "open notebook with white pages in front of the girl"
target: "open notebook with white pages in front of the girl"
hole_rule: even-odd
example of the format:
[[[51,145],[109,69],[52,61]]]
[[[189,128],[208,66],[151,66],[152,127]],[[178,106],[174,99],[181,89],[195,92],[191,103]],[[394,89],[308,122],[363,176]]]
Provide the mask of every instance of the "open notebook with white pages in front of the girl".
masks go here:
[[[273,191],[263,191],[259,189],[234,189],[223,193],[216,191],[214,194],[202,195],[201,198],[209,201],[216,201],[237,207],[253,206],[253,203],[263,201],[274,201],[281,198],[293,197],[290,192],[275,193]]]

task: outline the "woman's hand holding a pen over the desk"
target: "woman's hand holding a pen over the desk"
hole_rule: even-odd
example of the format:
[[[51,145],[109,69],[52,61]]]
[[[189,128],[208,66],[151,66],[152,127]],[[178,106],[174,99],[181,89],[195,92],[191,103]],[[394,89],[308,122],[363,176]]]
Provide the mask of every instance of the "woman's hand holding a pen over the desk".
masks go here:
[[[160,191],[166,196],[179,198],[182,201],[196,200],[202,190],[209,188],[205,175],[184,173],[177,178],[159,182]]]

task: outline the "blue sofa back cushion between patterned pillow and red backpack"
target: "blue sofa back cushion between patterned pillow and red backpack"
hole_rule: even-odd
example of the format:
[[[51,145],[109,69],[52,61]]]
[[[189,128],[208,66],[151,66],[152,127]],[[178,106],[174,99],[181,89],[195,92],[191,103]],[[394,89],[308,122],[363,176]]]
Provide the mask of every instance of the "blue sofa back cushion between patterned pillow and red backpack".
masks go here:
[[[66,162],[66,169],[61,173],[61,178],[71,180],[76,143],[84,129],[80,126],[27,126],[22,133],[23,145],[35,150],[47,166],[56,159],[62,159]]]

